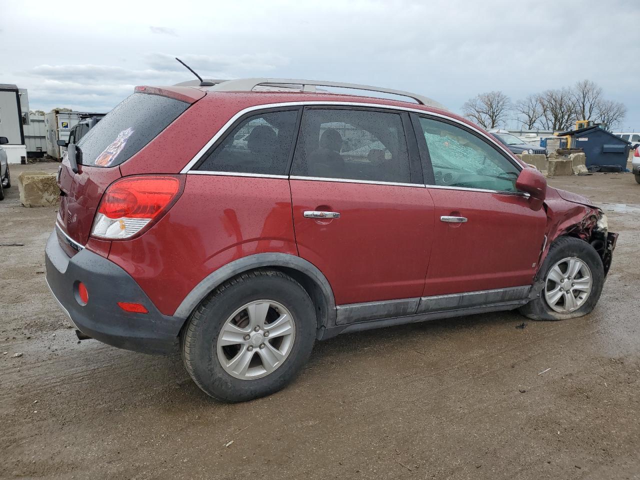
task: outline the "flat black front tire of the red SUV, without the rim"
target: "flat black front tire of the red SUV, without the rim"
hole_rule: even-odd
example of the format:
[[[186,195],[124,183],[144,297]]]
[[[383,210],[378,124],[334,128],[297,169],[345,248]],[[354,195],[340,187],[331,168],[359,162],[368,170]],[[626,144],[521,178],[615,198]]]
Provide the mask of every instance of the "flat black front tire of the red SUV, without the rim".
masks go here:
[[[536,282],[545,280],[550,269],[559,261],[568,257],[575,257],[587,264],[591,270],[591,292],[584,303],[573,312],[556,312],[549,307],[545,300],[545,287],[540,292],[540,296],[519,308],[519,312],[532,320],[566,320],[570,318],[582,317],[593,310],[600,299],[602,287],[604,286],[604,266],[602,259],[595,248],[584,240],[574,237],[560,237],[549,248],[547,258],[542,264]]]

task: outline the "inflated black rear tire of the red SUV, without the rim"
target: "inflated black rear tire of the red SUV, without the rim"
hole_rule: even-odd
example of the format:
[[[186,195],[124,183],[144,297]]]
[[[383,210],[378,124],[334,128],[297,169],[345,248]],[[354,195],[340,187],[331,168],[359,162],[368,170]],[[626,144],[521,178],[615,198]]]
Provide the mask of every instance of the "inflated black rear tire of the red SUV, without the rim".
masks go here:
[[[218,335],[232,314],[254,300],[281,303],[294,318],[291,351],[275,371],[255,380],[234,378],[218,359]],[[284,388],[307,362],[316,339],[316,310],[307,291],[280,271],[243,273],[217,287],[198,305],[182,333],[182,358],[198,387],[220,401],[239,402],[264,397]]]

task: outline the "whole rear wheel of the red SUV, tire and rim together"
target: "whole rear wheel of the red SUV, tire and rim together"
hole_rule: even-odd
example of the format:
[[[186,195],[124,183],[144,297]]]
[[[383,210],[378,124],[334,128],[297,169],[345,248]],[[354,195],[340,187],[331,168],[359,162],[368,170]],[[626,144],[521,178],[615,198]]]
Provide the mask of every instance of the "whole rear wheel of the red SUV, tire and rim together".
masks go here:
[[[312,301],[293,278],[272,270],[237,276],[191,316],[184,364],[198,387],[221,401],[246,401],[284,388],[316,337]]]

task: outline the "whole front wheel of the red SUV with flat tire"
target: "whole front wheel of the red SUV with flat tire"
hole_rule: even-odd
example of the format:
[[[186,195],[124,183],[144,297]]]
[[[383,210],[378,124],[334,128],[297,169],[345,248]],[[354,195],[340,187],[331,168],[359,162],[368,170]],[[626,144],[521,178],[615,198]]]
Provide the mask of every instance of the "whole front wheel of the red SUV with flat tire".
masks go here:
[[[604,267],[595,248],[583,240],[560,237],[549,248],[539,277],[540,296],[520,308],[533,320],[582,317],[596,306],[604,285]]]

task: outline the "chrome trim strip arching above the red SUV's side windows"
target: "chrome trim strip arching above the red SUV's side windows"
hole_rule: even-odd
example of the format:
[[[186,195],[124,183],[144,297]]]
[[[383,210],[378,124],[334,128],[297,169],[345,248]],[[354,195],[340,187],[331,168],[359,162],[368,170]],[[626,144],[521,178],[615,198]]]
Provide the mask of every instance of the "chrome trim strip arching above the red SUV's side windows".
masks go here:
[[[302,102],[276,102],[276,103],[268,103],[268,104],[262,104],[262,105],[254,105],[251,107],[247,107],[242,109],[241,111],[239,111],[238,113],[236,113],[236,115],[232,116],[228,122],[226,124],[224,124],[221,129],[216,132],[216,134],[214,136],[211,137],[211,140],[207,141],[207,143],[204,145],[204,147],[200,148],[200,151],[198,151],[198,153],[195,154],[195,156],[193,156],[193,158],[189,161],[189,163],[187,163],[184,168],[182,168],[182,170],[180,170],[180,173],[193,173],[193,172],[189,172],[189,170],[191,170],[191,167],[193,167],[198,160],[200,160],[200,157],[202,157],[207,150],[209,150],[209,148],[216,143],[216,141],[218,141],[218,139],[223,136],[227,130],[231,127],[231,125],[233,125],[236,120],[238,118],[240,118],[241,116],[246,115],[247,113],[251,113],[253,111],[257,111],[257,110],[266,110],[269,108],[285,108],[285,107],[300,107],[300,106],[328,106],[328,107],[332,107],[332,106],[343,106],[343,107],[364,107],[364,108],[375,108],[375,109],[388,109],[388,110],[394,110],[394,111],[408,111],[408,112],[413,112],[413,113],[419,113],[420,115],[428,115],[428,116],[434,116],[434,117],[438,117],[438,118],[444,118],[445,120],[449,120],[449,122],[454,122],[458,125],[462,125],[463,127],[466,127],[467,129],[470,129],[474,132],[476,132],[479,136],[481,136],[482,138],[484,138],[485,140],[488,140],[492,145],[494,145],[495,147],[498,147],[499,150],[502,150],[502,152],[504,152],[505,154],[507,154],[507,156],[511,156],[511,152],[509,152],[509,150],[504,147],[504,145],[502,145],[502,143],[500,143],[499,141],[493,139],[491,136],[485,135],[483,132],[481,132],[479,129],[477,129],[476,127],[472,126],[472,125],[468,125],[465,122],[461,122],[460,120],[458,120],[457,118],[453,118],[452,116],[448,116],[448,115],[442,115],[442,113],[437,113],[437,112],[433,112],[433,111],[426,111],[426,110],[421,110],[421,109],[417,109],[417,108],[411,108],[411,107],[405,107],[405,106],[397,106],[397,105],[385,105],[385,104],[377,104],[377,103],[366,103],[366,102],[337,102],[337,101],[322,101],[322,100],[305,100]],[[524,166],[522,166],[521,164],[517,164],[518,167],[520,167],[520,170],[524,169]],[[198,172],[205,172],[205,170],[198,170]],[[229,172],[232,173],[232,172]]]

